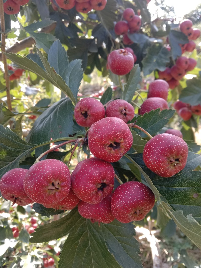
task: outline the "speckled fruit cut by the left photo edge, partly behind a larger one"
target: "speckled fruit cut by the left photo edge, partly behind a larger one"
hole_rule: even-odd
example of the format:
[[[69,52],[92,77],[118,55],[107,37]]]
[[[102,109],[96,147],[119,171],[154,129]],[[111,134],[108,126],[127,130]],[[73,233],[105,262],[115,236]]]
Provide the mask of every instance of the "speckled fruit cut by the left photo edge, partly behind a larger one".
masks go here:
[[[0,180],[0,191],[3,198],[20,206],[33,203],[24,191],[24,179],[28,169],[15,168],[6,172]]]

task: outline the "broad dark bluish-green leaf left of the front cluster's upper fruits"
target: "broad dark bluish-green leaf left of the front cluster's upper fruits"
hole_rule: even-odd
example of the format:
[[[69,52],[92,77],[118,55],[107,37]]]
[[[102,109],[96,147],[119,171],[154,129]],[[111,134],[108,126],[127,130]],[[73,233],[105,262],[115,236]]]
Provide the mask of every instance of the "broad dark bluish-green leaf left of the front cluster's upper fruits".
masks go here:
[[[63,98],[45,110],[34,122],[28,135],[31,143],[42,143],[73,134],[73,105],[69,98]],[[49,144],[36,148],[38,157],[49,150]]]

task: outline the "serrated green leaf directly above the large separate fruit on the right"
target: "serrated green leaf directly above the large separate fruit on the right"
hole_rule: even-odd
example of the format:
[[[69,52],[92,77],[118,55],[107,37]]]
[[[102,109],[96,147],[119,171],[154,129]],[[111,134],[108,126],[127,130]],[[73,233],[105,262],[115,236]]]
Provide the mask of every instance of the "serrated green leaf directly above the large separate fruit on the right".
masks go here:
[[[160,109],[152,110],[149,113],[143,114],[143,116],[134,117],[132,122],[137,120],[136,125],[145,129],[150,135],[154,135],[160,131],[166,124],[168,124],[171,117],[173,117],[175,110],[165,109],[160,111]],[[147,135],[135,128],[135,131],[140,136],[147,137]]]

